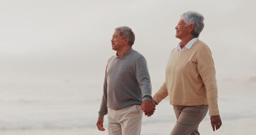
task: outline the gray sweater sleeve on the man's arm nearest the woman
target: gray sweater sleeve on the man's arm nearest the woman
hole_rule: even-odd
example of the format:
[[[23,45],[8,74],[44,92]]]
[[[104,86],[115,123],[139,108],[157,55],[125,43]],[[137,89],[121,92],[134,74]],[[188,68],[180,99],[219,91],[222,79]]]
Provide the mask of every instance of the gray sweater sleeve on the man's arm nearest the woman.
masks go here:
[[[136,61],[135,66],[135,75],[138,81],[138,84],[141,88],[142,100],[152,100],[151,97],[151,81],[149,70],[147,69],[147,61],[144,57],[140,57]]]

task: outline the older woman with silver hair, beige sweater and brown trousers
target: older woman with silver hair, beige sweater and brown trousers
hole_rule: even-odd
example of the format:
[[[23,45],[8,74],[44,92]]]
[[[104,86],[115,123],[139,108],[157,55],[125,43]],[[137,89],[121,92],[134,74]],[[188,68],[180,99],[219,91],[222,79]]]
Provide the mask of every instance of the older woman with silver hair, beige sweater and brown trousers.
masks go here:
[[[198,39],[203,21],[204,16],[195,11],[181,15],[175,28],[181,42],[170,53],[165,82],[153,97],[156,105],[165,97],[170,98],[177,118],[171,135],[199,134],[199,124],[208,109],[213,131],[222,125],[212,53]]]

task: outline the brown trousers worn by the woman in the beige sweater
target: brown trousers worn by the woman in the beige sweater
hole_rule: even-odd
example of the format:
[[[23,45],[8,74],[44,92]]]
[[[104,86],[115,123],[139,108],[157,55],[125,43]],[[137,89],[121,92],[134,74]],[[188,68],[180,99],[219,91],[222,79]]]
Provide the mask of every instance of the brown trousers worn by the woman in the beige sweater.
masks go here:
[[[199,135],[198,126],[208,112],[208,105],[173,106],[177,123],[170,135]]]

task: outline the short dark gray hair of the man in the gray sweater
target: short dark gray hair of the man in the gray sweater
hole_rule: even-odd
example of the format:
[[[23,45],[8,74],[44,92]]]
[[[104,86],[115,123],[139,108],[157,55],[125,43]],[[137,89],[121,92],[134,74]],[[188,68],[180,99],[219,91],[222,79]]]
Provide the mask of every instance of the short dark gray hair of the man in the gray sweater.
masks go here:
[[[124,38],[129,38],[128,44],[130,46],[133,45],[134,40],[135,40],[135,35],[132,31],[131,28],[129,28],[128,26],[119,26],[118,28],[115,28],[115,30],[119,30],[120,31],[120,35]]]

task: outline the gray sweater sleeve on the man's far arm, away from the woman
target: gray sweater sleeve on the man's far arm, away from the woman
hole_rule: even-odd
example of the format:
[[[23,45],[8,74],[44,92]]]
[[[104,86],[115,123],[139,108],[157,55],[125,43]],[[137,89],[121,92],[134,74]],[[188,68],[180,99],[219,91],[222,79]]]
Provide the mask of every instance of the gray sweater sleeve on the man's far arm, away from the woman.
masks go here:
[[[106,80],[106,73],[105,73],[103,96],[101,100],[100,111],[98,111],[98,118],[104,118],[104,115],[106,114],[107,114],[107,80]]]

